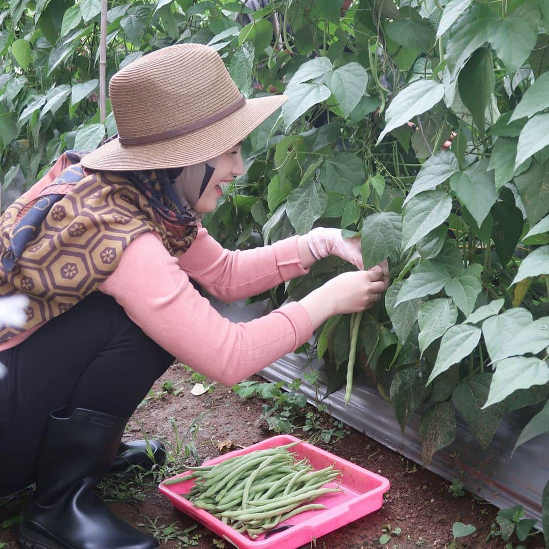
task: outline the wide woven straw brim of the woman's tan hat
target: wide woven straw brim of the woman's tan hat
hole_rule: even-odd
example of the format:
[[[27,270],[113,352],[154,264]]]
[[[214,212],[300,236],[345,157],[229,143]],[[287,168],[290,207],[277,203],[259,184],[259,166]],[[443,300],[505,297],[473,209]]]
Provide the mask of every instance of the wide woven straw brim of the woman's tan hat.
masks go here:
[[[182,136],[143,145],[121,145],[118,139],[82,159],[94,170],[153,170],[199,164],[225,153],[273,114],[286,96],[247,99],[225,118]]]

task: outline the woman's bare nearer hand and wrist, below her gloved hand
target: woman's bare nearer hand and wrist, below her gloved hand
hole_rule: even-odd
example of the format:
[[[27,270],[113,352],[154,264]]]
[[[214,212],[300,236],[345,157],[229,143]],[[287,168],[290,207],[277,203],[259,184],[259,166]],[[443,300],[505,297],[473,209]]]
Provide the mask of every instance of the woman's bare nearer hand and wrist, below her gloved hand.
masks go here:
[[[369,271],[338,275],[299,302],[316,329],[330,316],[369,309],[383,298],[388,287],[389,278],[384,274],[384,267],[378,265]]]

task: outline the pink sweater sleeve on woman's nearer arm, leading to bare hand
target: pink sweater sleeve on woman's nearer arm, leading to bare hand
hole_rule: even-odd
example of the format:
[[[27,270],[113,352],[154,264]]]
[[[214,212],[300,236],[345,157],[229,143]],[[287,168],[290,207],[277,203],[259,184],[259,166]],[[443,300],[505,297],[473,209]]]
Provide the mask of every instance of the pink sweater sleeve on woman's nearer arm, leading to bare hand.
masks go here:
[[[253,292],[254,284],[248,288]],[[99,289],[178,360],[225,385],[259,372],[312,334],[309,314],[297,302],[251,322],[223,318],[154,233],[142,234],[126,248]]]

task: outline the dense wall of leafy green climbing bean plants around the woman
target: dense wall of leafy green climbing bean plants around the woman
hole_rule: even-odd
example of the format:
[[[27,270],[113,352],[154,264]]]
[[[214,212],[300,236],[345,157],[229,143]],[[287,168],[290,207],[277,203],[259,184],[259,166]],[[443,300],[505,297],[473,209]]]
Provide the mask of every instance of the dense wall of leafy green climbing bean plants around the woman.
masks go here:
[[[116,131],[109,105],[98,113],[99,12],[3,3],[4,206],[61,152]],[[384,302],[317,330],[329,390],[365,370],[403,432],[421,414],[425,463],[456,413],[481,449],[525,406],[539,412],[515,449],[549,430],[547,0],[113,0],[107,31],[108,77],[200,42],[244,96],[288,96],[205,224],[229,248],[333,226],[361,236],[365,268],[389,260]],[[324,259],[260,297],[278,306],[349,268]]]

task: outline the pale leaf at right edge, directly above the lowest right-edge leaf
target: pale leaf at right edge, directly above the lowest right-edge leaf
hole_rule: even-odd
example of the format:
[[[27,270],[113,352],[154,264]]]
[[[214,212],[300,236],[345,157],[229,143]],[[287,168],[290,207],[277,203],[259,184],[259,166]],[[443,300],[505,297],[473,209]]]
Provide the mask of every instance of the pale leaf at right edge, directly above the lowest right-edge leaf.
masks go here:
[[[549,366],[535,356],[513,356],[497,363],[483,408],[501,402],[517,389],[549,383]]]

